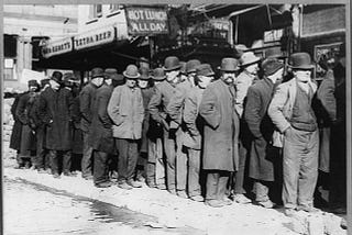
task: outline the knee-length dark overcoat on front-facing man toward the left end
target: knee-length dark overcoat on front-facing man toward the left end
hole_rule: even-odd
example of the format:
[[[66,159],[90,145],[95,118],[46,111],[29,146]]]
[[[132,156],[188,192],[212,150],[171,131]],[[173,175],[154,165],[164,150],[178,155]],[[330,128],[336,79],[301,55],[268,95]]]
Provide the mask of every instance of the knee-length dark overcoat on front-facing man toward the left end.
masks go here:
[[[40,115],[46,124],[46,148],[70,150],[73,145],[73,94],[67,89],[47,88],[41,94]]]

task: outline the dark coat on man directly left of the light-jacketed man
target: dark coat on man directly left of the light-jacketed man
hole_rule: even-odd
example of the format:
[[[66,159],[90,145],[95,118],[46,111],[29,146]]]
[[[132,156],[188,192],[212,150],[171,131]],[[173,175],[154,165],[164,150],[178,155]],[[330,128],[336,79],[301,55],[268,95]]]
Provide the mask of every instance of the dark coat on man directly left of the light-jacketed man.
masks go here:
[[[112,91],[113,87],[106,83],[97,89],[89,132],[89,145],[96,150],[109,154],[116,154],[112,121],[108,114],[108,103]]]

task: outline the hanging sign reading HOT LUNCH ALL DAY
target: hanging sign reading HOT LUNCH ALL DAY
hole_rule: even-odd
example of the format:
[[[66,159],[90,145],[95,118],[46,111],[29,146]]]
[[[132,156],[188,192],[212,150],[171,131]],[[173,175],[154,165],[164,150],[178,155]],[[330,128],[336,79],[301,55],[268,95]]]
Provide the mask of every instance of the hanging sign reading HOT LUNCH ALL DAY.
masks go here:
[[[130,35],[145,36],[168,33],[166,9],[127,8],[125,18]]]

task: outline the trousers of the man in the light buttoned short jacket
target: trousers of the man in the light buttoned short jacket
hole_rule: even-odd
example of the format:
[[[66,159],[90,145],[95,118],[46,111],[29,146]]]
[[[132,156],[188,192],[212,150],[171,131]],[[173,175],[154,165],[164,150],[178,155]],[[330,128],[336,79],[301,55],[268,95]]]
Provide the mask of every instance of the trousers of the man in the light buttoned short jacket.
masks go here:
[[[133,180],[139,158],[139,143],[135,139],[116,138],[119,150],[118,174],[119,183]]]

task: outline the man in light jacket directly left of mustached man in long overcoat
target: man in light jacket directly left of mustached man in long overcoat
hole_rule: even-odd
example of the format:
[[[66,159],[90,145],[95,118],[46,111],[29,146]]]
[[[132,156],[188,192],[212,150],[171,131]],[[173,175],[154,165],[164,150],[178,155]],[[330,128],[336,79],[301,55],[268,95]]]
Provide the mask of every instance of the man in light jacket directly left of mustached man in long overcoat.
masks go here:
[[[215,72],[209,64],[201,64],[196,66],[196,87],[191,88],[185,99],[185,107],[183,112],[183,120],[186,125],[184,146],[187,147],[188,153],[188,195],[191,200],[201,202],[200,190],[200,155],[202,148],[202,130],[204,120],[199,114],[199,105],[202,93],[208,85],[213,80]],[[186,165],[186,167],[187,167]]]

